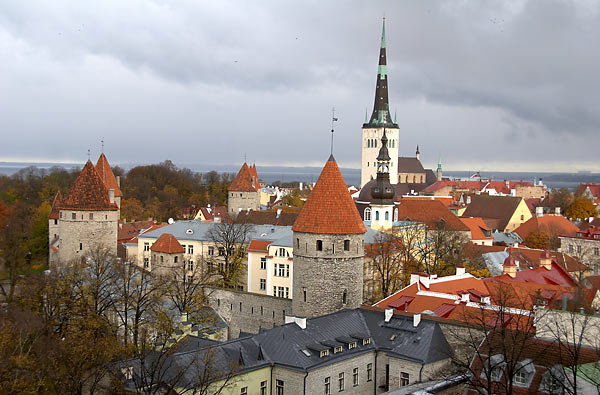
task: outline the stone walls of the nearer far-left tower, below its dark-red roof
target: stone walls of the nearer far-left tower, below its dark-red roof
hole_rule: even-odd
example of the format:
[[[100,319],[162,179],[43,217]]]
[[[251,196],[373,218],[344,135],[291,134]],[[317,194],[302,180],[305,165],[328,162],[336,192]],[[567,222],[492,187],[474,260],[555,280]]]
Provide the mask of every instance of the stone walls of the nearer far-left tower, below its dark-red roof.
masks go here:
[[[72,214],[75,213],[75,219]],[[90,214],[93,218],[90,219]],[[94,248],[117,255],[118,211],[60,210],[58,263],[81,259]]]

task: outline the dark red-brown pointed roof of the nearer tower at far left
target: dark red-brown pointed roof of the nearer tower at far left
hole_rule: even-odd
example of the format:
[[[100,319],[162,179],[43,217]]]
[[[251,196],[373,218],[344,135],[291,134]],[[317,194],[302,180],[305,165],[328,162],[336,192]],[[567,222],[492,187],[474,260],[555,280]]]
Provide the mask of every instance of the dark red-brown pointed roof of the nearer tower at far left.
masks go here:
[[[108,190],[89,160],[61,200],[60,209],[65,210],[118,210],[116,203],[108,200]]]

